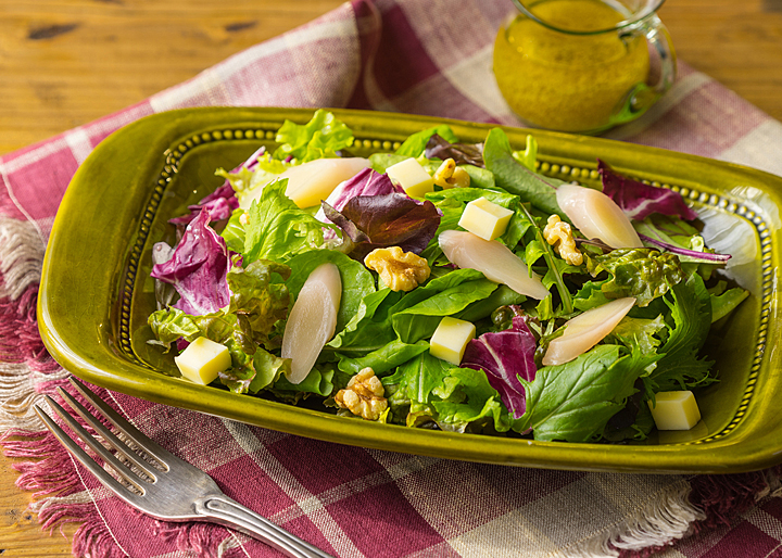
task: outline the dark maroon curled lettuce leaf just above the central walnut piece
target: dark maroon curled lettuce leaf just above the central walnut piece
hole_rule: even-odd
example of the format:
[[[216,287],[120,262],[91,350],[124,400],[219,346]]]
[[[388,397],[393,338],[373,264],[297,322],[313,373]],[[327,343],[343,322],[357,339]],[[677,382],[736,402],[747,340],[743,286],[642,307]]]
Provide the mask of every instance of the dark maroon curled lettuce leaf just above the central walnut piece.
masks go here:
[[[419,203],[401,193],[358,195],[341,212],[327,202],[321,206],[326,217],[355,244],[351,257],[362,259],[373,250],[387,246],[420,254],[440,225],[440,212],[433,203]]]

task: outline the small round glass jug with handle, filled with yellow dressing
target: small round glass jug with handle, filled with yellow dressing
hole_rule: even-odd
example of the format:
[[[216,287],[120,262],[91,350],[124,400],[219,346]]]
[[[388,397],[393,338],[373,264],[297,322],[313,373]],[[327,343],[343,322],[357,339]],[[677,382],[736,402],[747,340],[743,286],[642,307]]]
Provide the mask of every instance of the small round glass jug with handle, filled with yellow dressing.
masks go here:
[[[596,134],[645,112],[667,90],[676,60],[655,15],[661,1],[516,0],[500,29],[494,74],[513,111],[532,126]],[[649,78],[649,48],[660,76]]]

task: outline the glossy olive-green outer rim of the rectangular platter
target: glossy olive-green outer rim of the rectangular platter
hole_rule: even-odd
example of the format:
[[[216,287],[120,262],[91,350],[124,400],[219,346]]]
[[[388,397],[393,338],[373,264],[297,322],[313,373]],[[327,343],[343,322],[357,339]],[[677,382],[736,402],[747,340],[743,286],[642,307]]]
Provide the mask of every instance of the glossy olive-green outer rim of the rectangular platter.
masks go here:
[[[420,124],[421,128],[434,124],[445,123],[454,125],[458,128],[467,127],[483,131],[490,129],[491,127],[495,127],[495,125],[491,124],[467,123],[464,121],[406,115],[400,113],[380,113],[338,109],[332,109],[331,111],[335,112],[338,117],[342,118],[357,118],[360,121],[380,119],[384,123],[389,123],[392,128],[394,126],[396,128],[409,126],[411,123]],[[193,410],[204,413],[202,408],[195,408],[195,406],[192,405],[192,401],[198,398],[197,395],[199,392],[202,393],[203,388],[195,384],[188,384],[179,379],[163,375],[149,373],[143,369],[139,369],[135,365],[128,365],[127,362],[122,360],[115,353],[101,353],[102,357],[111,357],[109,360],[102,360],[102,364],[110,362],[123,373],[130,372],[133,375],[139,375],[139,372],[143,371],[144,373],[140,375],[140,378],[143,378],[144,381],[140,382],[136,377],[129,378],[126,376],[117,376],[119,372],[106,372],[102,369],[102,367],[97,366],[98,360],[94,356],[78,354],[71,350],[67,333],[73,334],[73,332],[68,332],[67,324],[63,322],[63,318],[61,316],[56,316],[50,312],[49,304],[51,302],[49,299],[50,286],[58,272],[56,266],[52,259],[58,253],[58,237],[60,236],[60,230],[67,227],[65,216],[68,214],[68,207],[78,205],[79,200],[77,199],[77,195],[80,188],[85,188],[79,185],[88,180],[90,173],[93,172],[93,167],[100,162],[100,157],[104,156],[104,153],[113,153],[113,150],[117,147],[117,144],[129,135],[138,136],[153,129],[164,129],[165,132],[161,134],[167,135],[169,138],[181,138],[187,136],[187,130],[189,128],[200,130],[209,129],[209,126],[204,128],[205,123],[210,123],[211,125],[211,123],[219,123],[220,121],[231,118],[236,121],[237,125],[240,122],[249,122],[253,118],[256,118],[260,122],[264,122],[264,119],[280,122],[285,118],[306,122],[306,119],[308,119],[312,115],[312,109],[280,107],[182,109],[143,117],[112,134],[109,138],[101,142],[79,167],[65,193],[61,211],[58,212],[50,237],[51,251],[48,248],[45,256],[40,294],[38,299],[38,324],[41,338],[50,354],[52,354],[52,356],[61,363],[64,368],[91,383],[114,389],[123,393],[129,393],[130,395],[141,396],[148,401],[177,407],[191,408]],[[742,177],[753,183],[775,185],[775,188],[768,187],[762,189],[762,191],[771,194],[772,198],[777,198],[780,205],[782,205],[782,202],[779,201],[779,193],[782,192],[782,178],[743,165],[707,160],[697,155],[678,153],[661,150],[659,148],[618,142],[605,138],[572,136],[568,134],[543,130],[528,130],[507,126],[499,127],[502,127],[508,132],[512,137],[512,142],[514,138],[518,139],[526,134],[533,134],[535,139],[539,141],[540,153],[542,156],[568,158],[564,156],[565,152],[572,156],[573,153],[579,154],[586,151],[593,151],[595,147],[610,149],[611,166],[617,168],[619,172],[625,169],[623,165],[621,163],[619,165],[615,165],[614,163],[616,161],[627,161],[629,155],[633,155],[639,152],[643,153],[651,160],[665,161],[666,165],[663,165],[660,170],[668,173],[670,173],[671,168],[674,168],[677,165],[683,165],[686,163],[686,165],[681,167],[684,172],[680,172],[682,182],[684,183],[697,183],[696,176],[698,173],[703,172],[704,165],[708,168],[717,167],[723,172],[726,179],[728,179],[728,177],[732,177],[731,179]],[[365,131],[365,128],[360,128],[357,130],[354,129],[356,137],[362,137]],[[176,143],[176,141],[168,141],[169,145],[174,143]],[[616,157],[615,154],[617,155]],[[160,153],[150,156],[157,157],[160,161]],[[144,164],[147,164],[147,162],[144,162]],[[148,167],[149,165],[144,166],[144,168]],[[774,237],[777,240],[774,240]],[[769,240],[767,244],[772,257],[772,264],[775,263],[775,266],[772,266],[773,269],[779,269],[779,228],[770,231],[768,237]],[[768,293],[768,296],[770,301],[774,301],[777,303],[775,308],[777,314],[779,314],[780,296],[778,289],[772,289],[771,292]],[[778,331],[779,329],[774,325],[775,320],[771,318],[771,316],[766,316],[767,339],[773,339],[771,333]],[[64,332],[66,334],[63,334]],[[771,352],[769,351],[764,354],[760,366],[766,366],[767,368],[772,366],[769,353]],[[780,368],[779,360],[780,357],[777,357],[777,367],[774,370]],[[770,372],[772,371],[773,370],[770,370]],[[185,402],[185,405],[182,405],[182,401],[180,398],[174,400],[165,395],[165,388],[171,386],[172,382],[176,382],[177,390],[184,390],[188,397],[191,397]],[[777,385],[778,391],[779,388],[780,386]],[[735,435],[726,435],[722,436],[722,439],[715,440],[708,444],[699,445],[670,444],[655,446],[616,446],[589,443],[576,444],[566,442],[538,442],[478,434],[429,432],[426,430],[408,429],[406,427],[393,424],[376,424],[365,421],[360,422],[301,407],[291,407],[285,404],[258,400],[252,396],[237,395],[223,390],[214,390],[214,392],[215,393],[213,395],[214,400],[217,402],[217,406],[215,407],[212,405],[210,408],[212,410],[217,410],[218,416],[226,418],[293,434],[316,437],[319,440],[350,443],[353,445],[374,447],[378,449],[415,453],[434,457],[465,459],[478,462],[494,462],[556,469],[659,473],[739,472],[761,469],[782,461],[782,455],[778,456],[775,455],[777,452],[772,451],[773,447],[779,448],[782,446],[782,431],[780,431],[780,434],[775,436],[773,433],[768,433],[765,436],[754,436],[751,440],[747,440],[745,434],[739,432]],[[235,404],[236,397],[242,397],[242,401],[248,401],[247,404],[237,406]],[[262,404],[261,407],[267,411],[269,410],[270,405],[270,410],[273,413],[272,418],[264,420],[263,424],[260,423],[257,421],[257,416],[248,413],[250,409],[255,409],[255,407],[257,407],[257,405],[253,405],[251,402]],[[188,406],[188,404],[190,405]],[[747,408],[745,411],[751,413],[752,409]],[[782,416],[777,414],[774,418],[777,420],[777,426],[782,424]],[[741,427],[741,424],[739,424],[739,427]],[[384,432],[390,432],[388,429],[403,429],[404,434],[401,434],[400,436],[395,434],[386,435]],[[733,432],[735,431],[736,429],[733,430]],[[396,437],[403,437],[404,440],[400,442]],[[733,456],[730,460],[726,459],[726,448],[735,447],[737,444],[740,444],[743,449],[740,458],[736,459],[735,456]],[[455,453],[453,451],[454,445],[461,446]],[[689,449],[686,452],[682,452],[682,448],[684,447]],[[623,448],[629,448],[630,451]],[[519,451],[522,455],[519,455]],[[639,456],[646,456],[648,453],[653,453],[655,457],[655,464],[651,466],[645,462],[640,462],[639,460]],[[682,456],[686,457],[692,455],[698,456],[698,459],[696,459],[697,464],[695,465],[692,461],[688,461],[688,459],[682,459]],[[704,460],[709,462],[706,469],[704,469]]]

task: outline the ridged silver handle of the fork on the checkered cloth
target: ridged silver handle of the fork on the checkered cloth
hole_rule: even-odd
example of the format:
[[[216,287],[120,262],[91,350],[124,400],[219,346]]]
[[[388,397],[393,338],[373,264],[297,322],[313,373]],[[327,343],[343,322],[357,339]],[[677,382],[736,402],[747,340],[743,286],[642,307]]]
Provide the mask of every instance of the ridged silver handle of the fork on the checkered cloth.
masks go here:
[[[204,520],[241,531],[291,558],[333,558],[228,496],[202,498],[195,503],[195,511]]]

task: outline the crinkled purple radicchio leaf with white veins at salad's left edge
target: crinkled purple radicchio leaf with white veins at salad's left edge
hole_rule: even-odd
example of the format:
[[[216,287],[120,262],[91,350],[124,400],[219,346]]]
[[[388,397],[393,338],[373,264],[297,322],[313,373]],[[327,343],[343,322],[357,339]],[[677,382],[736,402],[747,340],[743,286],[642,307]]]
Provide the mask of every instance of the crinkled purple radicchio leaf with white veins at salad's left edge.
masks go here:
[[[150,274],[174,286],[179,300],[173,307],[192,316],[217,312],[230,302],[228,249],[209,223],[210,213],[202,210],[185,229],[172,257],[152,266]]]

